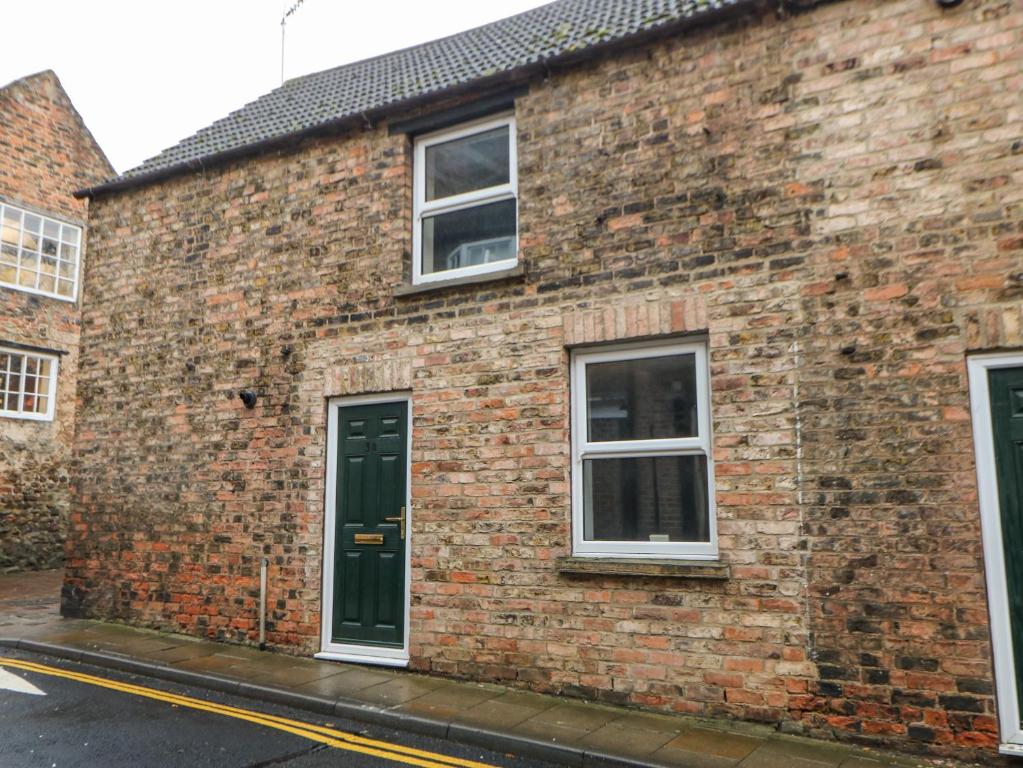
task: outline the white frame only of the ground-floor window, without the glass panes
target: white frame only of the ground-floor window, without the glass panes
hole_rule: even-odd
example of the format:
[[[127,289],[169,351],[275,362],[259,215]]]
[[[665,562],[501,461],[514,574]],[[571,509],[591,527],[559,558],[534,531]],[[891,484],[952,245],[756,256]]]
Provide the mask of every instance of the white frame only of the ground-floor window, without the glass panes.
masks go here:
[[[643,360],[671,355],[696,356],[697,432],[694,438],[590,442],[586,430],[586,366],[592,363]],[[710,420],[710,374],[707,344],[651,342],[580,349],[572,353],[572,553],[580,557],[655,557],[715,560],[717,512],[714,501],[714,460]],[[583,538],[583,471],[588,458],[705,455],[707,457],[707,542],[586,541]]]

